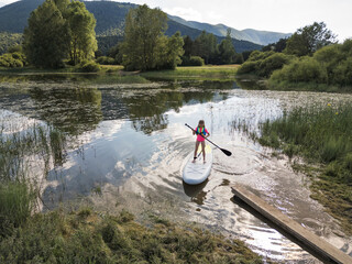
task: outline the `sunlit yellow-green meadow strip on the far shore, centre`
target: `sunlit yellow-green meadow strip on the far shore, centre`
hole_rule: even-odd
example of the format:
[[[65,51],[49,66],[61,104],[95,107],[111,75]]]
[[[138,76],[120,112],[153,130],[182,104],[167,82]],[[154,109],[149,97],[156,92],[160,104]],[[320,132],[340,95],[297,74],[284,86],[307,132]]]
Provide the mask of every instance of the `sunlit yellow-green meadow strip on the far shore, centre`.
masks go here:
[[[146,72],[141,75],[150,78],[234,78],[239,65],[189,66],[175,70]]]

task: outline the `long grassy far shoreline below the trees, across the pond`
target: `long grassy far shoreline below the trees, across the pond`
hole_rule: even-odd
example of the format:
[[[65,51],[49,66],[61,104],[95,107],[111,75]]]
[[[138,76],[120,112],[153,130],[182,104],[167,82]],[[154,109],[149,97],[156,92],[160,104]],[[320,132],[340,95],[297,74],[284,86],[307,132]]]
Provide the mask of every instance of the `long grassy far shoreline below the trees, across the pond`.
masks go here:
[[[33,67],[0,68],[0,82],[35,80],[35,77],[57,76],[67,80],[88,84],[148,84],[147,79],[234,79],[239,65],[177,67],[175,70],[124,72],[119,65],[101,65],[96,73],[86,73],[77,67],[37,69]]]

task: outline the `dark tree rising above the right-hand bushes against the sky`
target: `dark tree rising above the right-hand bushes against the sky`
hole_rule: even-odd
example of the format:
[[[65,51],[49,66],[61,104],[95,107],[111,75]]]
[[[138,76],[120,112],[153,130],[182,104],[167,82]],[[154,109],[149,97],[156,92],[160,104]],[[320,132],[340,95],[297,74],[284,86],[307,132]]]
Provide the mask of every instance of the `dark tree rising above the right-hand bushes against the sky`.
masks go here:
[[[297,56],[312,55],[319,48],[336,43],[336,37],[326,23],[315,22],[297,30],[288,38],[285,52]]]

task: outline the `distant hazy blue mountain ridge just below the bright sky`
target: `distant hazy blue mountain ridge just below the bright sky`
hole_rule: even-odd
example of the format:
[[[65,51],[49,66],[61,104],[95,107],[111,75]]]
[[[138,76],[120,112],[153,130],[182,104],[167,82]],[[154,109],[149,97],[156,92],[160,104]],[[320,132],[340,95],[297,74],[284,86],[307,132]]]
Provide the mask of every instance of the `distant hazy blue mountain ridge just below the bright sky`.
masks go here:
[[[183,24],[187,25],[200,31],[207,31],[218,36],[226,36],[228,29],[231,29],[231,36],[237,40],[249,41],[260,45],[267,45],[270,43],[275,43],[279,38],[289,37],[290,33],[279,33],[279,32],[271,32],[271,31],[256,31],[256,30],[242,30],[239,31],[237,29],[227,26],[224,24],[208,24],[208,23],[200,23],[197,21],[186,21],[182,18],[175,15],[168,15],[169,19]]]

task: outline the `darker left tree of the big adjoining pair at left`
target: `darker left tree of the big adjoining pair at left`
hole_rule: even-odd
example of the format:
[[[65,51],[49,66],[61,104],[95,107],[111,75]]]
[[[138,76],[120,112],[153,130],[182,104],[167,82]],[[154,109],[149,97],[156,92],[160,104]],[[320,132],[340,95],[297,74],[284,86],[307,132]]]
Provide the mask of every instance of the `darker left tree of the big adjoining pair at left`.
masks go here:
[[[56,68],[69,51],[69,28],[53,0],[34,10],[24,30],[23,50],[31,64],[36,67]]]

